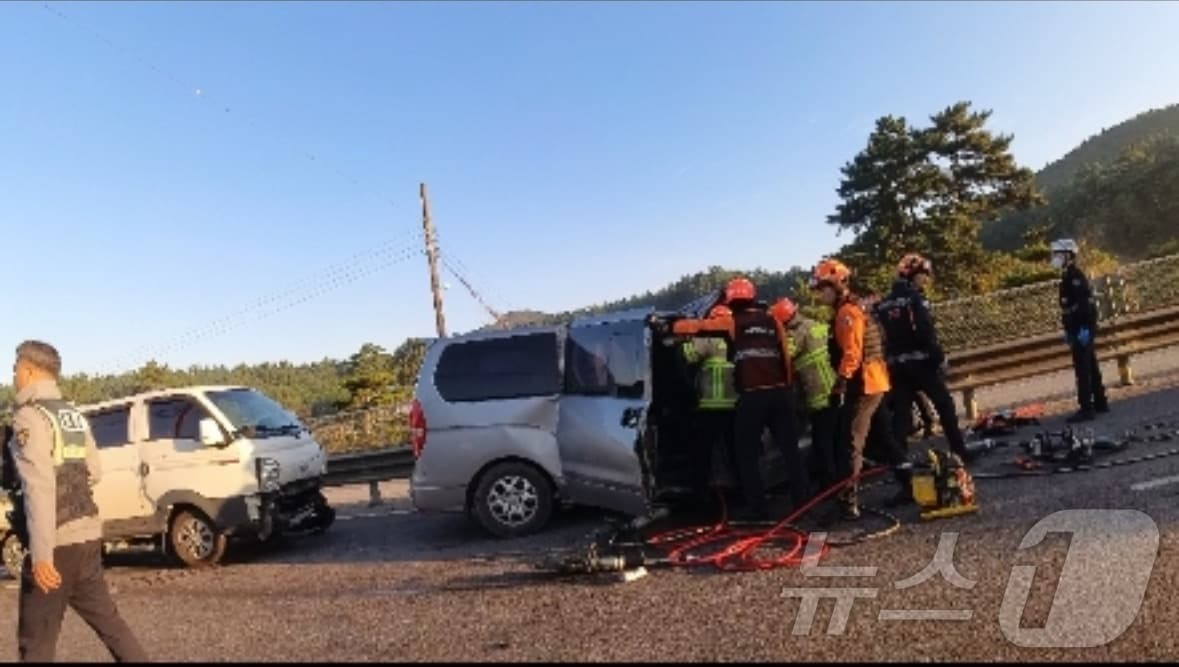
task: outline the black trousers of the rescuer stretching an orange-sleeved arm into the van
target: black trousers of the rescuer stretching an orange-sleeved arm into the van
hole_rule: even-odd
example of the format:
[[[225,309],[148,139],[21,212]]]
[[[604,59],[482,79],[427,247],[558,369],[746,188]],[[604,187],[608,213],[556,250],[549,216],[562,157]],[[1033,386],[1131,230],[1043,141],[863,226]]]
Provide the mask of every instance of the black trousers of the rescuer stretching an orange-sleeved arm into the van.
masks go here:
[[[759,389],[737,398],[737,474],[745,502],[753,510],[765,509],[765,483],[762,481],[762,434],[766,428],[786,465],[790,497],[795,506],[806,500],[806,475],[798,451],[795,424],[793,390]]]

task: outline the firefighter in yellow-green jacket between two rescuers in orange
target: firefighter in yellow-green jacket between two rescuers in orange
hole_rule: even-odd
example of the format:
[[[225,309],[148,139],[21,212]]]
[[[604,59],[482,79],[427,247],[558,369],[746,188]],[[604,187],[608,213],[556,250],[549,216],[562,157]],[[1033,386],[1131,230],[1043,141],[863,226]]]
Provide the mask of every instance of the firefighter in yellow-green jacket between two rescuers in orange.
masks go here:
[[[789,335],[790,359],[810,417],[811,475],[819,488],[825,489],[839,481],[842,469],[835,451],[838,409],[831,404],[835,370],[831,369],[826,348],[830,326],[805,317],[798,312],[795,302],[785,297],[770,308],[770,313],[786,328]]]

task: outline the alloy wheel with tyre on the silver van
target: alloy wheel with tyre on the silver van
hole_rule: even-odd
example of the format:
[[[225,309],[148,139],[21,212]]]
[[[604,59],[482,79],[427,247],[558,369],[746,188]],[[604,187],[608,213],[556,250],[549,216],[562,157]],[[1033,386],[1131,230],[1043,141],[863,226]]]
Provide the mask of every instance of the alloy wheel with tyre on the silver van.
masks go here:
[[[500,463],[479,478],[472,504],[479,523],[492,534],[531,535],[553,514],[553,484],[533,465]]]

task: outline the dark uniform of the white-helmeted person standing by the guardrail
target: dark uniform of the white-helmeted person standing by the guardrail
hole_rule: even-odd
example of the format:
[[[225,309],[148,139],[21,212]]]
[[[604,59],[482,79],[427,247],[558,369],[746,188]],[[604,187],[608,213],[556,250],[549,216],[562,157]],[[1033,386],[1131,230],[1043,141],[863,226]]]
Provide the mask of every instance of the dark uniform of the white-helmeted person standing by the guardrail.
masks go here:
[[[1098,309],[1089,280],[1075,263],[1065,268],[1060,279],[1060,313],[1061,325],[1073,351],[1076,403],[1081,415],[1092,415],[1094,410],[1104,412],[1109,409],[1109,404],[1096,356]],[[1079,339],[1082,329],[1088,330],[1088,341]]]

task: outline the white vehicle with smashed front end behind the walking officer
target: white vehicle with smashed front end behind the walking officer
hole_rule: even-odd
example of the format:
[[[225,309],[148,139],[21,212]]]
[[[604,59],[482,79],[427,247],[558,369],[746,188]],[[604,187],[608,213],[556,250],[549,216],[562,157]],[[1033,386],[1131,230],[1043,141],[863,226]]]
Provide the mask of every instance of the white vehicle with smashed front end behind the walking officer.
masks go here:
[[[91,405],[94,501],[108,552],[163,549],[215,564],[230,539],[322,533],[327,456],[298,418],[246,387],[189,387]]]

